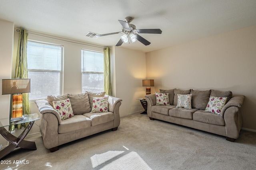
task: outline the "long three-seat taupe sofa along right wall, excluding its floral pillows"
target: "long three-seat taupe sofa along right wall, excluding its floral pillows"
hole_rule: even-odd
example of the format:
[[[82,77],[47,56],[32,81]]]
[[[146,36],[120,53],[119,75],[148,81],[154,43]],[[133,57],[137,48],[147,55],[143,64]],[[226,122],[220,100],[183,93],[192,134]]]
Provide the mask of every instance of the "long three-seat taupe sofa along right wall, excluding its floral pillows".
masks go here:
[[[234,142],[239,137],[242,127],[242,106],[244,96],[232,96],[231,91],[219,90],[161,90],[168,93],[170,105],[156,106],[156,94],[146,95],[148,102],[148,116],[151,120],[160,119],[194,129],[215,133],[226,137],[226,140]],[[176,107],[178,94],[192,94],[192,108],[184,109]],[[227,97],[228,101],[222,108],[221,114],[205,111],[210,96]]]

